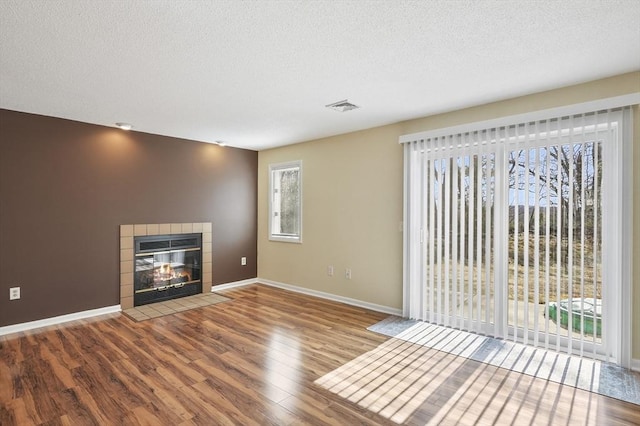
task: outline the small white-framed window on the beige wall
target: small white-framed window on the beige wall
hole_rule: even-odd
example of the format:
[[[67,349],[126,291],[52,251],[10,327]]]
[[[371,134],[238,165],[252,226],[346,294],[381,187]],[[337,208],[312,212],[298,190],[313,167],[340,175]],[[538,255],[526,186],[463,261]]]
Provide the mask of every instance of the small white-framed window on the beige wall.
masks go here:
[[[269,165],[269,239],[302,242],[302,161]]]

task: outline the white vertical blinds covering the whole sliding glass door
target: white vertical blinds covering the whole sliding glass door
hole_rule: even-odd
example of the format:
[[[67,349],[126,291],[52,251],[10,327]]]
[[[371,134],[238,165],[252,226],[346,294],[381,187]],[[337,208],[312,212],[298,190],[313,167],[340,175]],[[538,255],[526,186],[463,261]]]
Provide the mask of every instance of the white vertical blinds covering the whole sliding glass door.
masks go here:
[[[614,356],[622,116],[404,140],[404,316]]]

